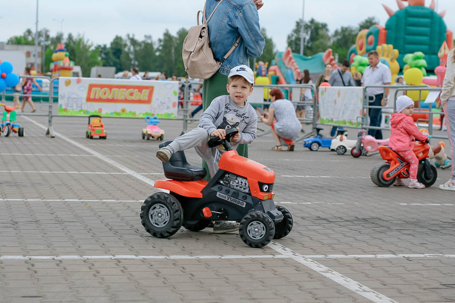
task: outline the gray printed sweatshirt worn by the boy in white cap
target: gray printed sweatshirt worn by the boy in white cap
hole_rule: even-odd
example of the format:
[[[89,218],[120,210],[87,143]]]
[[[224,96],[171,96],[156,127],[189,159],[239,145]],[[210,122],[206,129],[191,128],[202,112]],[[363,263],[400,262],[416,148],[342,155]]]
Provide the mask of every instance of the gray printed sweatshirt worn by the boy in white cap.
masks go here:
[[[257,115],[248,102],[245,102],[245,106],[238,106],[229,95],[222,95],[214,98],[201,114],[199,127],[205,128],[209,134],[218,128],[238,127],[239,139],[232,143],[235,147],[238,144],[251,143],[256,138]]]

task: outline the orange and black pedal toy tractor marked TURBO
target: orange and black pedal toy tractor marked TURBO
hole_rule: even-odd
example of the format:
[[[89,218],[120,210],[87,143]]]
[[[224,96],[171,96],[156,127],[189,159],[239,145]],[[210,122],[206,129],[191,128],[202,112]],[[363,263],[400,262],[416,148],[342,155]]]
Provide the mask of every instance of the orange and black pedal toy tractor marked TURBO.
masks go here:
[[[274,203],[275,173],[232,150],[230,141],[236,133],[238,130],[232,128],[226,130],[225,139],[213,137],[208,141],[210,147],[221,144],[226,150],[210,182],[202,180],[206,175],[203,167],[188,164],[184,151],[163,162],[164,175],[171,180],[158,180],[155,187],[170,192],[154,193],[144,201],[141,222],[147,232],[165,238],[182,225],[200,231],[213,220],[240,221],[240,237],[251,247],[262,247],[272,238],[289,234],[292,216]]]

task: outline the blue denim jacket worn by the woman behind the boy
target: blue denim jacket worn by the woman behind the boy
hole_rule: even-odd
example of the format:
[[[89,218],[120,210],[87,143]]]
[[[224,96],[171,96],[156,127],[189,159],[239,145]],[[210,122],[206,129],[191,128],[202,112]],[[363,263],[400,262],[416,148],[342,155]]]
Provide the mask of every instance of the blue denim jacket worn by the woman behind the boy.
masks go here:
[[[207,0],[206,17],[208,18],[218,1]],[[213,56],[221,61],[237,39],[242,36],[234,52],[223,61],[218,72],[229,75],[237,65],[250,66],[249,57],[262,55],[265,39],[260,33],[259,15],[253,0],[223,0],[208,22],[210,47]]]

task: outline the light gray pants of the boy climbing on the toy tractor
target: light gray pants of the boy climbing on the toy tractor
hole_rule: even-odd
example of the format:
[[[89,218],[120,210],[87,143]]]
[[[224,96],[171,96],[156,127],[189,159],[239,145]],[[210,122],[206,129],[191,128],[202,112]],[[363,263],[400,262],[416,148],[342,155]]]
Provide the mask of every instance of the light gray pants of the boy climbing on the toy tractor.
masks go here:
[[[196,127],[195,129],[176,137],[168,146],[173,149],[174,153],[194,147],[196,153],[207,163],[210,177],[213,178],[218,171],[221,153],[217,147],[211,148],[208,146],[207,142],[209,139],[210,136],[205,128]]]

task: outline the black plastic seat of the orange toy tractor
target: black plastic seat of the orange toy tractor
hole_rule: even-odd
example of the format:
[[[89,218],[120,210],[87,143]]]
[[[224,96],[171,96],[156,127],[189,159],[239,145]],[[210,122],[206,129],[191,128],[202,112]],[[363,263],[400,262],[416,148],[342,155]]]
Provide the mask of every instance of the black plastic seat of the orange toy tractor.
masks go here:
[[[164,147],[172,141],[164,141],[159,147]],[[164,176],[176,181],[198,181],[202,180],[207,171],[202,166],[190,165],[183,150],[172,154],[168,162],[163,162]]]

